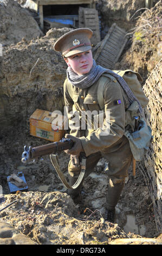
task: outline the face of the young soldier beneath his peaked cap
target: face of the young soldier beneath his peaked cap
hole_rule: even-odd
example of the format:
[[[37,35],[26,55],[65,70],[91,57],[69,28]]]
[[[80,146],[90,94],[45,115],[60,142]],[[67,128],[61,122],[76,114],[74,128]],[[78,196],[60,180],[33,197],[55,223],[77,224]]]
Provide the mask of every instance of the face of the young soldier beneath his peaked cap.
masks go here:
[[[93,66],[92,51],[74,54],[65,58],[65,61],[77,75],[87,74]]]

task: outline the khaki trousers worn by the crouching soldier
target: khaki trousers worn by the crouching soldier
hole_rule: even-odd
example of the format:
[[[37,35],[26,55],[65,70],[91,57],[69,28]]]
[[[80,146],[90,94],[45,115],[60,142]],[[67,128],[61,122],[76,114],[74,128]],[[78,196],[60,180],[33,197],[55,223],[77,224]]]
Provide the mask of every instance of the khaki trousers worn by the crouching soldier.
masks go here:
[[[106,208],[113,210],[115,205],[118,203],[122,188],[124,187],[125,178],[128,176],[128,168],[132,161],[132,153],[128,139],[123,136],[118,143],[115,143],[112,147],[108,148],[106,153],[97,152],[89,155],[86,160],[85,178],[93,172],[94,167],[101,157],[104,157],[108,161],[107,174],[109,177],[109,185],[106,198]],[[69,161],[68,172],[71,176],[70,185],[75,183],[80,171],[81,167],[74,168],[71,161]],[[69,191],[69,194],[73,197],[77,197],[81,191],[82,184],[77,188],[77,190]]]

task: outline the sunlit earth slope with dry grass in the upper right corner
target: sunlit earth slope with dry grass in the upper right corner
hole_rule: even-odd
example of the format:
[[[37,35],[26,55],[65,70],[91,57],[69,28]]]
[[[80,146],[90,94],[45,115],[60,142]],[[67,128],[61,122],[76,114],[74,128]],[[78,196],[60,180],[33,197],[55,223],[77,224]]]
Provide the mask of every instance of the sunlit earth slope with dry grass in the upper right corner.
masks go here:
[[[125,50],[116,69],[132,69],[141,74],[143,83],[162,56],[161,47],[161,1],[152,9],[139,16],[134,28],[129,33],[131,47]]]

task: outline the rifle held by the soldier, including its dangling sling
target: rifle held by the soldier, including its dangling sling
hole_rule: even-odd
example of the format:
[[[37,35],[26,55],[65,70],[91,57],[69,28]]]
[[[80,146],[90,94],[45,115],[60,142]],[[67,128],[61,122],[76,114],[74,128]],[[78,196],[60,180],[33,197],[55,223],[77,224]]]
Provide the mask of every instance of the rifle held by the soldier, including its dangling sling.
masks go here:
[[[24,152],[22,154],[22,162],[26,163],[28,161],[37,159],[39,157],[50,155],[51,163],[53,164],[57,174],[59,175],[59,178],[61,179],[64,186],[71,190],[75,190],[81,183],[83,177],[85,176],[86,171],[86,156],[85,153],[81,152],[79,159],[81,162],[81,172],[79,175],[79,178],[75,182],[73,186],[70,186],[63,175],[63,173],[60,170],[59,166],[59,158],[56,155],[57,153],[61,153],[64,150],[71,149],[73,147],[73,141],[72,139],[66,139],[62,138],[60,142],[53,142],[46,145],[41,145],[35,148],[32,148],[31,146],[27,148],[27,146],[24,146]]]

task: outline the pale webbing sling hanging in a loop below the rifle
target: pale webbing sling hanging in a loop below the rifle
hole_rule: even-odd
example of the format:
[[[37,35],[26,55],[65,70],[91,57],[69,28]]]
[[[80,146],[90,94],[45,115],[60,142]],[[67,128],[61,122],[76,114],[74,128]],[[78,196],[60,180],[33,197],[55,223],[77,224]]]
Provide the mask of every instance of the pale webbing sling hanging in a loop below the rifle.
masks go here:
[[[62,181],[64,186],[66,186],[66,188],[71,189],[71,190],[75,190],[81,184],[81,182],[82,182],[82,180],[85,176],[85,171],[86,171],[86,157],[82,157],[81,172],[80,172],[80,175],[79,175],[78,179],[76,180],[76,182],[73,186],[70,186],[68,184],[64,174],[61,172],[60,166],[59,166],[58,156],[54,155],[54,154],[50,154],[50,160],[51,160],[51,163],[53,164],[57,174],[59,175],[60,180]]]

